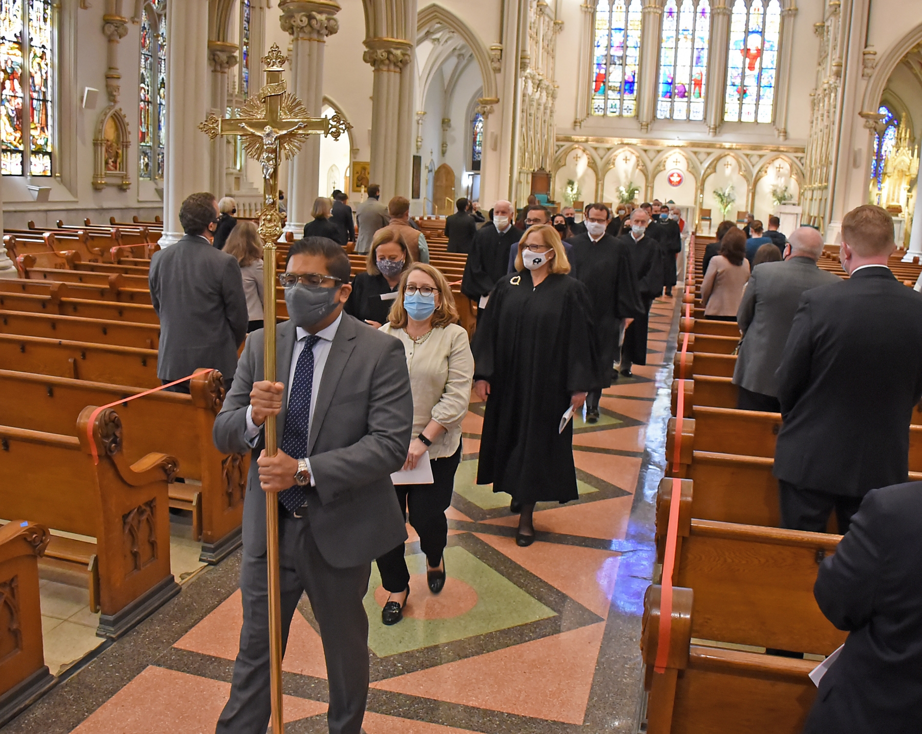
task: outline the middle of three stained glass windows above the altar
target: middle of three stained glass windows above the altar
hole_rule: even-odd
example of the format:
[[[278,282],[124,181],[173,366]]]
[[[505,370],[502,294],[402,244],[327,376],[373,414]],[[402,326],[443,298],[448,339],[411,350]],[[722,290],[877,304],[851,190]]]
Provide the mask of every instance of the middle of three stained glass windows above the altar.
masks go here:
[[[668,0],[659,47],[656,117],[703,120],[711,6],[707,0]]]

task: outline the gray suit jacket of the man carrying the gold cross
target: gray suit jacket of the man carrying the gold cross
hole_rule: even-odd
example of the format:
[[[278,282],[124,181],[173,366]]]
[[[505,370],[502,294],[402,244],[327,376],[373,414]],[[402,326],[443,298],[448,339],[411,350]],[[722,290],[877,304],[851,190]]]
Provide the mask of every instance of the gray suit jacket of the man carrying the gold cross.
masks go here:
[[[276,377],[286,384],[277,419],[279,444],[285,432],[295,339],[292,322],[278,326]],[[246,408],[250,390],[263,374],[263,329],[257,329],[246,340],[237,377],[215,419],[219,451],[251,450],[243,437]],[[311,434],[303,455],[311,459],[316,480],[315,488],[306,488],[313,539],[325,561],[337,568],[371,562],[407,539],[390,478],[407,459],[413,429],[413,397],[403,345],[343,314],[313,399]],[[266,494],[260,489],[256,466],[263,448],[261,438],[252,449],[243,503],[243,548],[254,556],[266,553]]]

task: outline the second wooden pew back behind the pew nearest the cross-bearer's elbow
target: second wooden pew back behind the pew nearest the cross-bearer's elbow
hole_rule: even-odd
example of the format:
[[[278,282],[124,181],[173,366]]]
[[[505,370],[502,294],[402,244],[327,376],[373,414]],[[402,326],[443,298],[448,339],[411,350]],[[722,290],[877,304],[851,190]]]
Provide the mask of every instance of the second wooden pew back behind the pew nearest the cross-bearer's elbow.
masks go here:
[[[156,324],[23,311],[0,311],[0,334],[90,341],[137,349],[157,349],[160,344],[160,326]]]

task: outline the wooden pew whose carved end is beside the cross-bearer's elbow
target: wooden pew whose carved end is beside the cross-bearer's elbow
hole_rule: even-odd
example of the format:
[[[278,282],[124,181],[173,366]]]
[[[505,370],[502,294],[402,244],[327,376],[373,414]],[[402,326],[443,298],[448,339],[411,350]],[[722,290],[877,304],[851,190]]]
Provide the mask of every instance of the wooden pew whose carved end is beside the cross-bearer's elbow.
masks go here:
[[[170,485],[170,506],[193,515],[195,539],[202,541],[202,562],[217,563],[240,546],[243,496],[249,454],[221,454],[211,437],[224,400],[220,373],[196,375],[191,395],[160,391],[119,408],[125,459],[133,463],[150,452],[175,456],[185,483]],[[49,433],[73,433],[87,405],[108,405],[142,392],[108,385],[0,370],[0,390],[8,396],[6,422]],[[193,481],[189,481],[192,479]]]

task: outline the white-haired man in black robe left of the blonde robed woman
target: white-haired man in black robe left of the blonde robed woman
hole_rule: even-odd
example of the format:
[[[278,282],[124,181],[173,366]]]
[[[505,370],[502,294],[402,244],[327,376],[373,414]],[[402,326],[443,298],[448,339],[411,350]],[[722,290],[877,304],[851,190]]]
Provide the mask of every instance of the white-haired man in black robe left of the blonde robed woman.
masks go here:
[[[496,282],[506,274],[509,248],[519,241],[521,230],[513,227],[513,205],[498,201],[493,205],[491,224],[481,227],[470,245],[461,292],[477,303],[477,319],[487,305],[487,297]]]

